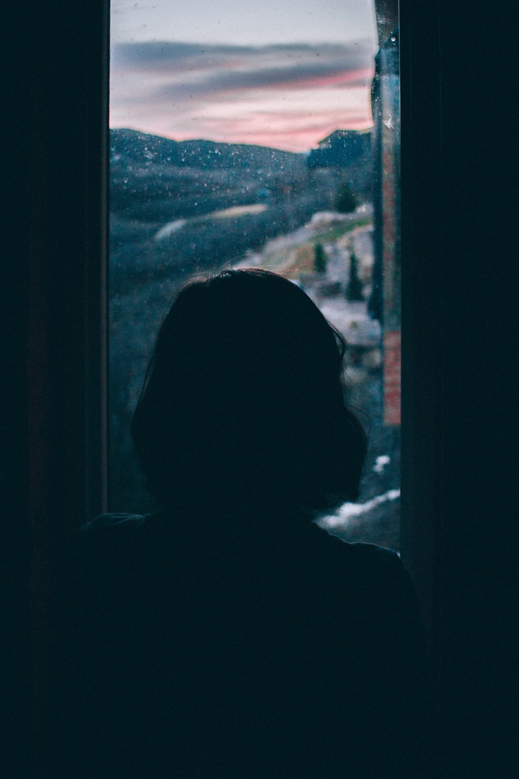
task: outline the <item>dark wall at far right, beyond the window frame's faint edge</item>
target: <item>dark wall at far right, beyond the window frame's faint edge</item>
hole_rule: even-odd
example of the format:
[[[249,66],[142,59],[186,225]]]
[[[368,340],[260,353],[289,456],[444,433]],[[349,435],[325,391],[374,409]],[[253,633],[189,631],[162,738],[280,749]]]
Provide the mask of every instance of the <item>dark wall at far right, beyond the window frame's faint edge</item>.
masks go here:
[[[513,24],[505,4],[464,6],[465,13],[450,9],[441,26],[442,681],[452,753],[472,756],[474,776],[512,776],[519,757],[511,678],[517,605],[510,590],[519,288],[510,170],[516,132],[508,93]],[[482,56],[474,55],[471,41],[485,42]],[[479,108],[482,122],[475,119]]]

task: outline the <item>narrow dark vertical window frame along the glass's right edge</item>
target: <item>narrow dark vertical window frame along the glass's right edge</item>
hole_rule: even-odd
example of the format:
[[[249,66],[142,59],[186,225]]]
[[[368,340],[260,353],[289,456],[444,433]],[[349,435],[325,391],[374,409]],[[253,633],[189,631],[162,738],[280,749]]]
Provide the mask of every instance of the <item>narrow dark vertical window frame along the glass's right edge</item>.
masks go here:
[[[420,5],[417,8],[417,5]],[[402,460],[401,555],[439,673],[437,573],[442,495],[443,245],[440,12],[400,0]],[[427,47],[421,41],[428,41]],[[427,182],[427,185],[424,185]],[[416,257],[419,256],[419,262]],[[435,321],[436,326],[430,323]]]

